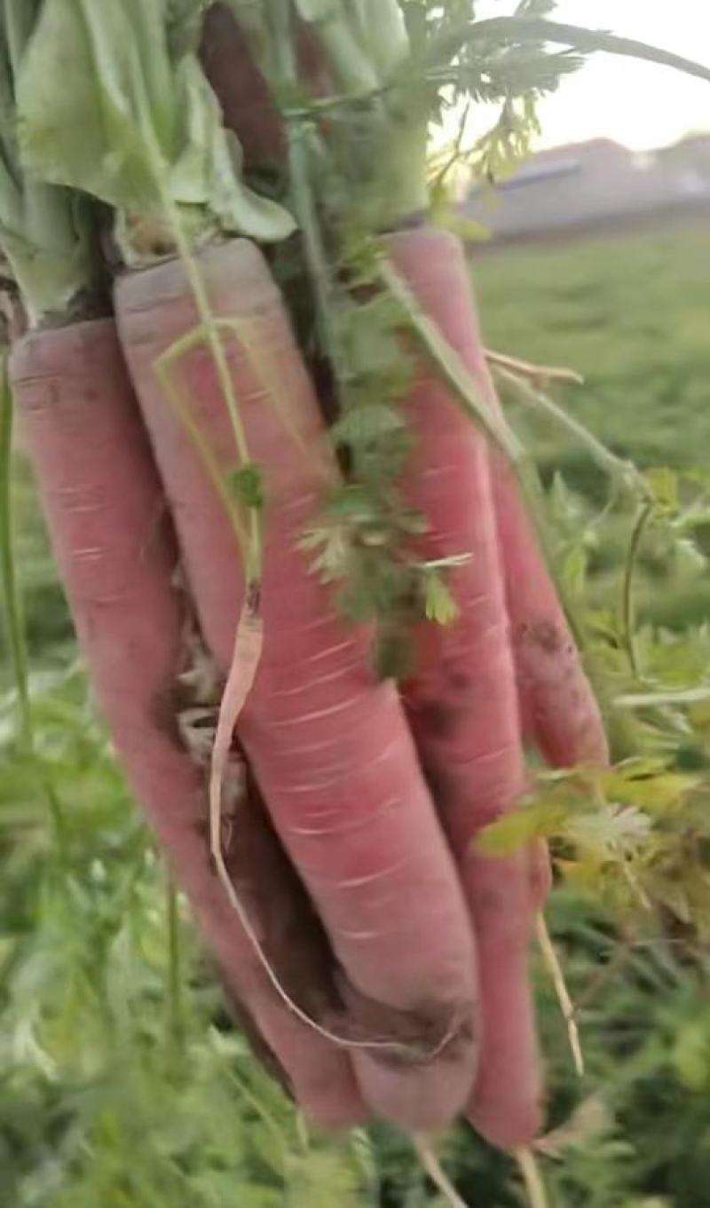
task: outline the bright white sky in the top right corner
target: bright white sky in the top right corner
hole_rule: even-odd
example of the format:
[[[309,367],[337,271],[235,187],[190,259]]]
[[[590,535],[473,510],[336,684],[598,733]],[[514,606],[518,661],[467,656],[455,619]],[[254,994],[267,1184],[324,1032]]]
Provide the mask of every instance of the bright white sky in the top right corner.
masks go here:
[[[508,0],[478,0],[476,13],[512,11]],[[710,0],[559,0],[557,21],[606,29],[710,66]],[[612,138],[646,150],[710,130],[710,83],[670,68],[595,54],[540,105],[540,146]]]

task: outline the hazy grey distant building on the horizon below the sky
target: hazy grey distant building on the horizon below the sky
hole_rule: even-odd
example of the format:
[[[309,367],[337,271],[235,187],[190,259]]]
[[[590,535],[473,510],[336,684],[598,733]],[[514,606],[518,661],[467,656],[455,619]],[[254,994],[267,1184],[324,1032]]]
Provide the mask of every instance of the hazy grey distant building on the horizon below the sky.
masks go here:
[[[611,139],[541,151],[495,187],[477,186],[467,217],[495,240],[536,239],[683,210],[710,217],[710,135],[634,152]]]

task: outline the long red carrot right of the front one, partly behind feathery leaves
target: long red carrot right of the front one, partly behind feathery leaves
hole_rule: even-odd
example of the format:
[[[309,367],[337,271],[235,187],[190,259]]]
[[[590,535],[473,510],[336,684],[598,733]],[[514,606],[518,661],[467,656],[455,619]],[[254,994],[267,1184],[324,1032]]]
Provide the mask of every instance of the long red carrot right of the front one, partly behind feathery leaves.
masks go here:
[[[390,236],[384,246],[470,365],[476,337],[458,240],[424,227]],[[433,368],[420,366],[403,406],[417,437],[405,489],[429,522],[419,552],[470,554],[450,571],[458,620],[421,626],[405,699],[476,930],[481,1061],[470,1117],[489,1140],[512,1146],[529,1142],[541,1122],[526,970],[535,893],[529,853],[489,859],[475,848],[479,829],[525,786],[488,448]]]

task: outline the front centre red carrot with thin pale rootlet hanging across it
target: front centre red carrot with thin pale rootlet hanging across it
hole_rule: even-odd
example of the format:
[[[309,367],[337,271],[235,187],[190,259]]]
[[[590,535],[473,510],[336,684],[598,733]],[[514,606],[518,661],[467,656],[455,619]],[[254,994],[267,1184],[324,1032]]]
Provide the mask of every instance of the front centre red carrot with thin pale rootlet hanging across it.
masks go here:
[[[263,652],[239,736],[343,968],[368,1102],[407,1128],[441,1126],[461,1108],[473,1073],[465,904],[397,692],[374,681],[368,633],[337,618],[298,547],[334,469],[278,290],[246,240],[203,249],[199,269],[214,314],[235,323],[225,337],[229,370],[264,475]],[[240,558],[155,372],[197,323],[180,262],[124,277],[116,306],[202,628],[226,669],[245,591]],[[237,452],[211,356],[193,347],[174,371],[229,476]]]

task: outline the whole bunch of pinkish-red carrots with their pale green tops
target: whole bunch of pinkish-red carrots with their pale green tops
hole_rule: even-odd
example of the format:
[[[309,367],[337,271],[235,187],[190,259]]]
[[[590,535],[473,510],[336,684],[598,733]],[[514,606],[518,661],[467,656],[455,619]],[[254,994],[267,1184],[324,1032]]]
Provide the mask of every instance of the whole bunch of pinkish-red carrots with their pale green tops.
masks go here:
[[[426,7],[7,0],[10,376],[99,705],[255,1046],[322,1125],[518,1148],[547,855],[476,837],[526,743],[607,749],[427,220],[440,79],[545,30]]]

